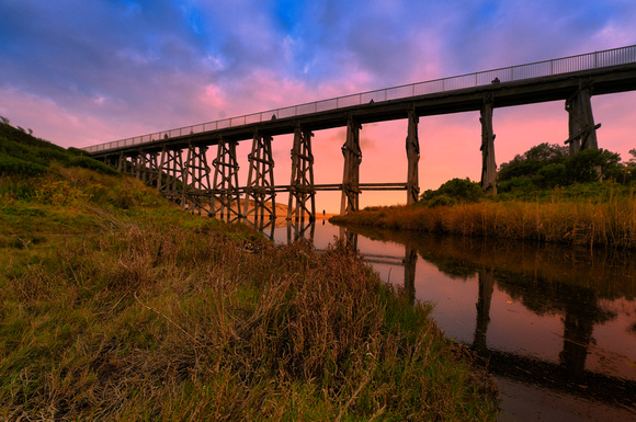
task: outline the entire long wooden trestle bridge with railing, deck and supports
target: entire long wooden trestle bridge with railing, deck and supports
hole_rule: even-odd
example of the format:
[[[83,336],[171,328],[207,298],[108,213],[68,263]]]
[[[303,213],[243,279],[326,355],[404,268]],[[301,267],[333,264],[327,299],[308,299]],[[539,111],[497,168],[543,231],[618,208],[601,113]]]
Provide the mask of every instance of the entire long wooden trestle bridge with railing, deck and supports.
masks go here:
[[[158,132],[84,148],[93,158],[157,187],[183,208],[232,221],[276,218],[275,197],[288,193],[287,219],[314,220],[316,192],[341,191],[340,214],[359,209],[365,190],[404,190],[418,199],[418,123],[422,116],[479,111],[481,186],[497,192],[492,111],[565,101],[570,155],[598,148],[591,96],[636,90],[636,46],[406,84]],[[362,125],[407,121],[405,183],[360,183]],[[314,132],[347,127],[341,184],[314,180]],[[293,134],[289,184],[274,183],[272,139]],[[239,186],[236,146],[252,141],[248,181]],[[216,158],[208,160],[211,147]],[[212,164],[212,166],[211,166]]]

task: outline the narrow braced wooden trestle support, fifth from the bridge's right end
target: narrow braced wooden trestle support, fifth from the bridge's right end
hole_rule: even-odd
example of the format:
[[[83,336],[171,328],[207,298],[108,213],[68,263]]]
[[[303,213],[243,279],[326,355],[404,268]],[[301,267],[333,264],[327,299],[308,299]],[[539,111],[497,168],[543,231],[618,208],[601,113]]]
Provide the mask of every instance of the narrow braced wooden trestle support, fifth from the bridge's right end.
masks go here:
[[[311,153],[310,130],[299,126],[294,129],[294,147],[292,148],[292,180],[289,183],[289,204],[287,219],[295,220],[308,217],[316,219],[316,189],[314,185],[314,155]]]

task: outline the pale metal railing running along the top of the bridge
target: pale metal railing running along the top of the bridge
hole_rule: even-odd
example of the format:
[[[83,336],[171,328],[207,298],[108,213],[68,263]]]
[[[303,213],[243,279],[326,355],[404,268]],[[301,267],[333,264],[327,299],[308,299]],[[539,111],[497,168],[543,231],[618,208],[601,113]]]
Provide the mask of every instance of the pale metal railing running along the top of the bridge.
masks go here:
[[[427,82],[410,83],[400,87],[386,88],[359,94],[338,96],[336,99],[298,104],[289,107],[275,109],[266,112],[247,114],[243,116],[224,118],[220,121],[184,126],[177,129],[156,132],[154,134],[136,136],[111,142],[83,148],[88,152],[100,152],[115,148],[140,145],[159,139],[170,139],[189,134],[198,134],[208,130],[218,130],[229,127],[249,125],[271,121],[272,118],[295,117],[304,114],[326,112],[361,104],[407,99],[410,96],[447,92],[466,88],[490,84],[493,80],[512,82],[532,78],[548,77],[581,70],[599,69],[611,66],[626,65],[636,61],[636,45],[569,56],[553,60],[536,61],[527,65],[512,66],[501,69],[486,70],[476,73],[435,79]]]

